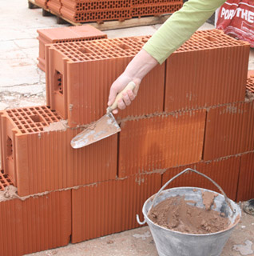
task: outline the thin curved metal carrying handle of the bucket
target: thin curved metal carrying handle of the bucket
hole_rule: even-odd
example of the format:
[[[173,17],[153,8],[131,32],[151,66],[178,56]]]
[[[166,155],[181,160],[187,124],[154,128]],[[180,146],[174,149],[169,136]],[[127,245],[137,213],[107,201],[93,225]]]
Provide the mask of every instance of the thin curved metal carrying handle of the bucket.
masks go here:
[[[168,186],[170,182],[173,182],[173,180],[174,180],[175,178],[181,176],[181,174],[185,174],[185,173],[188,172],[189,170],[192,171],[192,172],[194,172],[194,173],[196,173],[196,174],[200,174],[201,176],[203,176],[204,178],[207,178],[210,182],[212,182],[212,183],[220,190],[221,194],[224,195],[225,201],[227,202],[229,208],[232,210],[232,213],[233,213],[233,214],[236,213],[236,209],[232,209],[232,205],[231,205],[230,202],[228,201],[228,197],[227,197],[227,195],[224,193],[224,191],[222,190],[222,188],[221,188],[215,181],[213,181],[212,178],[209,178],[209,177],[206,176],[205,174],[202,174],[202,173],[200,173],[199,171],[193,170],[193,169],[191,169],[191,168],[187,168],[187,169],[181,171],[181,173],[177,174],[176,176],[174,176],[173,178],[171,178],[168,182],[166,182],[166,183],[161,187],[161,190],[159,190],[159,191],[157,192],[156,196],[153,198],[153,203],[152,203],[152,206],[150,207],[149,210],[151,210],[151,209],[153,208],[153,204],[154,204],[154,202],[156,201],[156,199],[157,199],[157,197],[159,196],[159,194],[161,194],[161,191],[164,190],[165,187]],[[140,224],[140,225],[144,225],[144,224],[145,224],[145,220],[144,220],[144,222],[141,222],[141,221],[140,221],[140,218],[139,218],[138,214],[136,215],[136,218],[137,218],[138,224]]]

